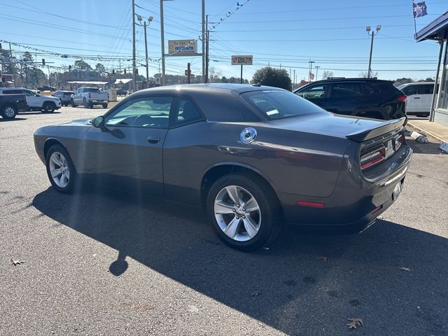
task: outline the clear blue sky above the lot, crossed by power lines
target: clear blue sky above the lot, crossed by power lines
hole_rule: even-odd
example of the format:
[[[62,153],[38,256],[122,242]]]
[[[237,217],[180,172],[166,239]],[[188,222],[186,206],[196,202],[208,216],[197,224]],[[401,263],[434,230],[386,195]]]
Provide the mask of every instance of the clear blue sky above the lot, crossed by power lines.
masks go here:
[[[0,39],[62,53],[68,58],[31,51],[54,66],[68,66],[80,57],[94,66],[101,62],[109,69],[131,66],[131,0],[0,0]],[[160,1],[135,0],[136,13],[153,16],[148,29],[150,76],[158,73],[160,50]],[[165,1],[165,46],[168,40],[197,38],[201,34],[201,0]],[[231,55],[253,55],[252,66],[244,66],[250,79],[262,66],[281,66],[297,80],[308,77],[309,60],[334,76],[356,77],[367,71],[370,36],[365,26],[381,25],[375,36],[372,71],[378,77],[426,78],[435,76],[438,45],[414,41],[412,1],[237,1],[206,0],[206,13],[212,22],[210,66],[222,76],[239,77],[239,66],[232,66]],[[448,10],[448,1],[426,1],[428,15],[416,19],[417,31]],[[232,13],[232,14],[230,14]],[[222,19],[222,20],[221,20]],[[221,22],[216,25],[214,22]],[[212,26],[215,26],[213,29]],[[143,27],[137,27],[137,57],[144,64]],[[8,45],[3,43],[3,48]],[[27,49],[13,45],[15,55]],[[199,42],[198,49],[201,50]],[[167,73],[181,74],[187,62],[200,74],[201,57],[167,57]],[[424,70],[424,71],[422,71]],[[46,71],[45,71],[46,72]],[[144,73],[139,67],[139,73]],[[316,69],[313,71],[316,72]]]

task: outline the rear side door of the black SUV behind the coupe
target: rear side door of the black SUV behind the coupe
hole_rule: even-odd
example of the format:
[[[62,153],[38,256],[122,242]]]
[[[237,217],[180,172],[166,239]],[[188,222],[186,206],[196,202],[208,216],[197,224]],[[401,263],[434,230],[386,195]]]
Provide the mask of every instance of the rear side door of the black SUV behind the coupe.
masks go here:
[[[363,83],[341,82],[332,83],[325,102],[325,110],[332,113],[353,115],[360,109],[365,109]]]

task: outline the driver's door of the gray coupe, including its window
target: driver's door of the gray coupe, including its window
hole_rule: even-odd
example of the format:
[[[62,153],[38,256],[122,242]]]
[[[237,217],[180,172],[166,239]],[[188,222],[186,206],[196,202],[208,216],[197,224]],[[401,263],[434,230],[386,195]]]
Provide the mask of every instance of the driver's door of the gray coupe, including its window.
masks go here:
[[[163,195],[162,148],[171,96],[136,97],[111,109],[104,127],[83,135],[84,169],[97,183]]]

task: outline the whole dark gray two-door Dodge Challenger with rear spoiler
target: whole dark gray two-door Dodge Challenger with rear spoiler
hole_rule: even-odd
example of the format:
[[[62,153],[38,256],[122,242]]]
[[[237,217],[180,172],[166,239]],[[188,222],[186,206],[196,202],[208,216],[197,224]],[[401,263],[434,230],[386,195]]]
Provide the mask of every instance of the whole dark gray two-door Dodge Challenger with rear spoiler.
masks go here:
[[[52,186],[81,178],[204,207],[248,251],[283,223],[360,232],[400,195],[412,149],[398,120],[337,116],[259,85],[141,90],[104,116],[36,130]]]

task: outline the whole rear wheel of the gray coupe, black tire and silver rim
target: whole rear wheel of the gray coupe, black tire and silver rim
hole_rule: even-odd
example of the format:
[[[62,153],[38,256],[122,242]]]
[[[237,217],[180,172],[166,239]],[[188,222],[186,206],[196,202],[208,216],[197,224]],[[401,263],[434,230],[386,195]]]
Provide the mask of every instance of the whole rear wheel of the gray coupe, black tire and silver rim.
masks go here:
[[[228,174],[218,179],[207,196],[207,214],[219,239],[240,251],[267,246],[283,223],[272,189],[248,174]]]

